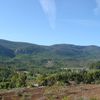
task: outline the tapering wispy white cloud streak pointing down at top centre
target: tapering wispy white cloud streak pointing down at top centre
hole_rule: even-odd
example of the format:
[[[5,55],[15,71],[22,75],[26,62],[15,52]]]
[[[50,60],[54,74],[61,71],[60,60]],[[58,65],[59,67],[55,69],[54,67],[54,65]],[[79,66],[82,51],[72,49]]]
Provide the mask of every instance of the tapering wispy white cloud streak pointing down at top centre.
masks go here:
[[[56,3],[55,0],[39,0],[41,7],[46,14],[49,24],[52,29],[55,28],[56,24]]]

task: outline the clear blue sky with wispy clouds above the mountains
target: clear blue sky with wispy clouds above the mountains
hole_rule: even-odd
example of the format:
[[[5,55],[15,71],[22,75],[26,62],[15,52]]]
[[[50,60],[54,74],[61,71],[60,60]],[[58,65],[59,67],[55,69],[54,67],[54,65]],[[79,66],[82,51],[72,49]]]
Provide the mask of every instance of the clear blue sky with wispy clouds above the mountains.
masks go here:
[[[0,39],[100,46],[100,0],[0,0]]]

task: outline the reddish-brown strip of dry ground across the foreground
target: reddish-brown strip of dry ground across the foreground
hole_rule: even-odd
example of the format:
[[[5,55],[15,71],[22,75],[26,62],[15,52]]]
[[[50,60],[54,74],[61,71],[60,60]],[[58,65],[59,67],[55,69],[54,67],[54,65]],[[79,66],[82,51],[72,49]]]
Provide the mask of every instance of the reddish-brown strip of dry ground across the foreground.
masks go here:
[[[51,100],[50,97],[53,97],[53,100],[63,100],[64,97],[68,97],[68,100],[79,100],[81,97],[85,100],[100,100],[100,85],[68,86],[64,87],[61,93],[54,89],[53,93],[49,94],[46,93],[45,87],[0,92],[0,100]]]

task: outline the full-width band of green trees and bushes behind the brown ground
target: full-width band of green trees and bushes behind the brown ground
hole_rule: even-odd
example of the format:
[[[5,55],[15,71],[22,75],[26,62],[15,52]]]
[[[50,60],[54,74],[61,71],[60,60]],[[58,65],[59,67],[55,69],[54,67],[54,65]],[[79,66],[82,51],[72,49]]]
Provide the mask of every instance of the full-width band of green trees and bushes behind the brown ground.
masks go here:
[[[55,84],[100,84],[100,70],[34,68],[17,71],[13,68],[0,68],[0,89]]]

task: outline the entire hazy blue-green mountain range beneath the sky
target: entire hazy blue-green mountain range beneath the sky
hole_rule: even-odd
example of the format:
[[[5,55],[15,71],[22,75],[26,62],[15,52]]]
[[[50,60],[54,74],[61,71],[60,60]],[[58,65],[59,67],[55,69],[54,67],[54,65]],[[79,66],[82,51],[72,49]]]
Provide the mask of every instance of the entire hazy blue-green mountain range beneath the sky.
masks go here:
[[[34,62],[34,60],[37,60],[37,63],[39,61],[41,66],[46,65],[48,61],[56,62],[56,64],[61,62],[62,65],[59,66],[87,66],[88,63],[100,59],[100,47],[72,44],[43,46],[0,39],[0,59],[2,57],[13,59],[11,61],[17,59],[17,61]]]

